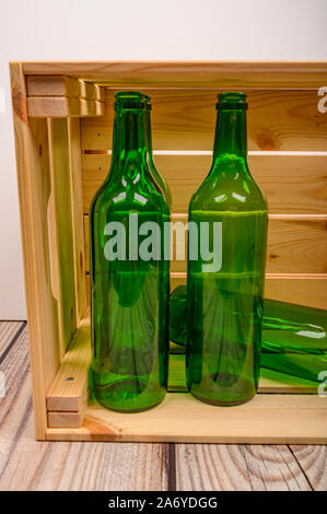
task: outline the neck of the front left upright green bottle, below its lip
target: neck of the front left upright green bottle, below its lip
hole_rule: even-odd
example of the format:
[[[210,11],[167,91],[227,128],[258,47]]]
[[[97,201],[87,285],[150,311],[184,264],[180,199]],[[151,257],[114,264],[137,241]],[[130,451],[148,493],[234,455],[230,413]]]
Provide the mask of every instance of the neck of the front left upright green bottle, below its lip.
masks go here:
[[[112,163],[119,166],[128,161],[141,162],[144,156],[143,112],[141,109],[116,112]]]

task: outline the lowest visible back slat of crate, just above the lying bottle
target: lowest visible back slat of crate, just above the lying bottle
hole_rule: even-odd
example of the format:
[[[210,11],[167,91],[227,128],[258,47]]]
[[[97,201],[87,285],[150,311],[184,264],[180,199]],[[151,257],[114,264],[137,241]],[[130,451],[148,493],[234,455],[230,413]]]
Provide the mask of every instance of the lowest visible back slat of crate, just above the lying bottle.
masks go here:
[[[171,290],[182,283],[186,283],[186,273],[172,273]],[[268,274],[266,277],[265,297],[310,307],[326,308],[327,274]]]

